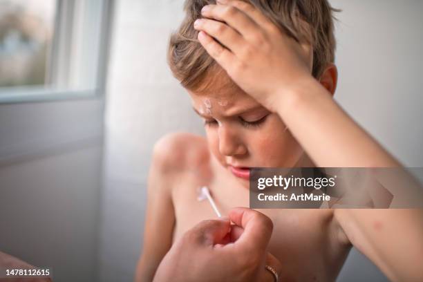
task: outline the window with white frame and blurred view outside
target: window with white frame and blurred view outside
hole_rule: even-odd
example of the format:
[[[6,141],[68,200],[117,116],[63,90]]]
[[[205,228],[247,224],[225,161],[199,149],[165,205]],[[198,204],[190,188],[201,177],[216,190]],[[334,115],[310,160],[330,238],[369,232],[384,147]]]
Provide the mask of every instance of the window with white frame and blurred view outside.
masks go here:
[[[0,102],[97,95],[109,2],[0,0]]]

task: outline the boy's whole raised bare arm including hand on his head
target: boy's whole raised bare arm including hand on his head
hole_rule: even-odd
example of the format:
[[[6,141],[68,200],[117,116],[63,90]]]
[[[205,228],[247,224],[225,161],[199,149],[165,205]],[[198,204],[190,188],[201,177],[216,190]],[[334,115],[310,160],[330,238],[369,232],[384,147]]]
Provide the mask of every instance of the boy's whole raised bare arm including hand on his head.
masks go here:
[[[248,3],[225,2],[203,10],[207,19],[194,25],[200,43],[238,86],[280,115],[318,167],[401,166],[332,99],[335,66],[313,78],[308,44],[283,34]],[[390,279],[423,281],[422,209],[337,209],[334,218],[344,243]]]

